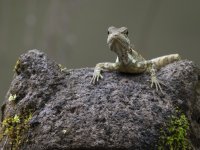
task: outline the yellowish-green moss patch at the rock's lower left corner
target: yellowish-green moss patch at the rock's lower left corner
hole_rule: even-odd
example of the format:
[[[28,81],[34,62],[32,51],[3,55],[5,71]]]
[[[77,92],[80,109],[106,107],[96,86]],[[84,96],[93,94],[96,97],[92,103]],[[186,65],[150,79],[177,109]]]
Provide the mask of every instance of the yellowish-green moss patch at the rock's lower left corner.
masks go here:
[[[2,122],[0,140],[6,137],[9,143],[5,144],[9,144],[13,150],[19,149],[20,145],[27,141],[25,135],[30,128],[29,121],[31,118],[32,113],[28,113],[28,115],[15,115],[5,118]]]

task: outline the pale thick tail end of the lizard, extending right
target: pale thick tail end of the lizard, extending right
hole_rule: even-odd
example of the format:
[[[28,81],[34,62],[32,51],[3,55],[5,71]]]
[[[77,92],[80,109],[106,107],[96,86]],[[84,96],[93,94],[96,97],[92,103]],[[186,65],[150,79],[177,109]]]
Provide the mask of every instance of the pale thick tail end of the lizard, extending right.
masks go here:
[[[171,54],[171,55],[157,57],[157,58],[151,59],[150,61],[156,65],[157,69],[160,69],[161,67],[164,67],[164,66],[166,66],[170,63],[173,63],[174,61],[178,61],[180,59],[181,59],[181,57],[179,54]]]

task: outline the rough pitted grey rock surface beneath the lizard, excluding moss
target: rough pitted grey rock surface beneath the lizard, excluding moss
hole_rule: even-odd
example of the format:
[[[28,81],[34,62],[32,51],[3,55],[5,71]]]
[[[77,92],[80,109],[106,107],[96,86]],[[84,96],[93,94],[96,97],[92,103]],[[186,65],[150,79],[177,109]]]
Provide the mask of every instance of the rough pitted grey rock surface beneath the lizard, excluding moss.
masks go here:
[[[150,87],[147,73],[105,72],[91,85],[92,68],[61,71],[38,50],[21,55],[15,70],[2,120],[33,111],[20,149],[156,149],[160,128],[176,107],[189,118],[189,139],[200,149],[200,75],[191,61],[158,72],[164,94]],[[14,103],[10,94],[17,96]],[[0,147],[9,148],[8,141]]]

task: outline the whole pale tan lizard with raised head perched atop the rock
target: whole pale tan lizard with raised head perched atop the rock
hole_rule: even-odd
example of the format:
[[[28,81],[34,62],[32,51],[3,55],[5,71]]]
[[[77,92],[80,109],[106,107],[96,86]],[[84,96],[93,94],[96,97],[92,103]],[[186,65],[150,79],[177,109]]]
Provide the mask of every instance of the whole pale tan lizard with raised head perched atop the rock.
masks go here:
[[[144,59],[133,49],[128,37],[127,27],[116,28],[110,26],[108,28],[107,44],[110,50],[117,54],[116,62],[96,64],[91,79],[92,84],[97,83],[99,79],[103,78],[101,73],[105,70],[133,74],[148,72],[151,76],[151,87],[155,86],[156,91],[160,90],[163,93],[161,84],[165,84],[157,78],[157,70],[181,59],[179,54],[164,55],[150,60]]]

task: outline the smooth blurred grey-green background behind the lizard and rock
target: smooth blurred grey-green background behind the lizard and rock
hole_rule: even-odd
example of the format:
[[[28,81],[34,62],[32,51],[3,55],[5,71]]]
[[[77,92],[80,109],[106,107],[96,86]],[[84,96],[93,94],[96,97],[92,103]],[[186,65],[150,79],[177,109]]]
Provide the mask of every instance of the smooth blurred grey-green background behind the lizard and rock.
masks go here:
[[[147,59],[179,53],[200,64],[200,0],[0,0],[0,103],[27,50],[68,68],[115,61],[106,45],[110,25],[128,27]]]

